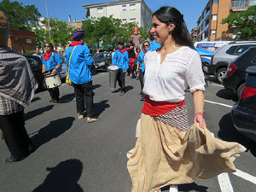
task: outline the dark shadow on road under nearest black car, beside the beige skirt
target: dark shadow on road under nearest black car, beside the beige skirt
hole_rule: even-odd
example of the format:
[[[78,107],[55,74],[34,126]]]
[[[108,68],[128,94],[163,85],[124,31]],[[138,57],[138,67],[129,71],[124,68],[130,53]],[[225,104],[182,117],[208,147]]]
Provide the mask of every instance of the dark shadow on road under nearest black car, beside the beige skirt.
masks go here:
[[[222,138],[224,141],[227,141],[227,142],[240,143],[245,148],[247,148],[247,150],[250,150],[253,156],[256,157],[255,143],[249,138],[241,135],[241,133],[239,133],[236,130],[236,127],[233,125],[231,113],[225,114],[223,118],[220,119],[218,125],[219,125],[218,137]]]

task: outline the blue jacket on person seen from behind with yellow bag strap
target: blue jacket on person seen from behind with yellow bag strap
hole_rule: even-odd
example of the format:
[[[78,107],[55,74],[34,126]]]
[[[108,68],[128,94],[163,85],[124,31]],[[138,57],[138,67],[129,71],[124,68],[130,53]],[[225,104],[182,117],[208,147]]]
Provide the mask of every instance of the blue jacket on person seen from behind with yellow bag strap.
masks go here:
[[[65,51],[67,66],[69,67],[69,57],[75,46],[70,46]],[[87,45],[77,45],[71,55],[69,67],[69,79],[73,84],[86,84],[92,81],[90,67],[93,65],[94,60],[91,58],[90,49]]]

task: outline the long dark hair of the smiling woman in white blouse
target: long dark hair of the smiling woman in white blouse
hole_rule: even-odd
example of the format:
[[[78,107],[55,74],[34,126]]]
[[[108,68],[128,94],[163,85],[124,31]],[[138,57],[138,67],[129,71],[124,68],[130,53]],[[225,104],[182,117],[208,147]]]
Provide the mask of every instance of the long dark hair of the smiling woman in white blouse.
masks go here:
[[[176,44],[189,46],[191,49],[195,49],[188,28],[183,20],[183,15],[177,9],[170,6],[161,7],[154,12],[153,16],[162,23],[166,23],[166,26],[169,26],[170,23],[175,24],[172,31],[172,38]]]

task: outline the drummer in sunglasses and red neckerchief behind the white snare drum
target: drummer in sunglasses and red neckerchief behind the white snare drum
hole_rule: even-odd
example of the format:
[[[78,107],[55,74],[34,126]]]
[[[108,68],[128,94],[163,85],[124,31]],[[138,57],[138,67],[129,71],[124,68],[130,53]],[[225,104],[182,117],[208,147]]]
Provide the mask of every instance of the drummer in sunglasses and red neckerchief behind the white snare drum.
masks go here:
[[[53,44],[45,44],[45,54],[42,56],[42,73],[57,74],[61,67],[61,55],[55,52]],[[58,87],[48,89],[51,99],[48,103],[55,104],[59,102],[60,90]]]

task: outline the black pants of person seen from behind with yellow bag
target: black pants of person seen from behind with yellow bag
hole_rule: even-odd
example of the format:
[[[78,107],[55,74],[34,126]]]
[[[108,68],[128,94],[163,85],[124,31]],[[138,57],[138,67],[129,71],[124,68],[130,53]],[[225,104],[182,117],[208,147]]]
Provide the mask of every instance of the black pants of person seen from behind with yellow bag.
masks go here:
[[[94,107],[92,81],[86,84],[73,84],[73,88],[76,96],[77,112],[78,113],[84,112],[85,110],[84,103],[85,103],[87,117],[92,117],[93,107]]]

